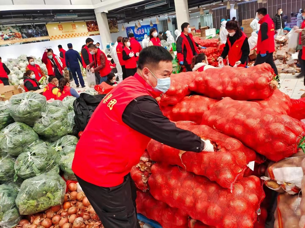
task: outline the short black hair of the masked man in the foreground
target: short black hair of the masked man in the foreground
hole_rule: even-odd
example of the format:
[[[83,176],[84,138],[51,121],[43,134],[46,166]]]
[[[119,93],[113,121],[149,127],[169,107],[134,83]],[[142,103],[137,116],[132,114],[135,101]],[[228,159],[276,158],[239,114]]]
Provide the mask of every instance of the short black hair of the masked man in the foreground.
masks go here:
[[[160,61],[172,61],[173,57],[164,47],[149,46],[140,51],[138,69],[142,70],[147,65],[157,65]]]

